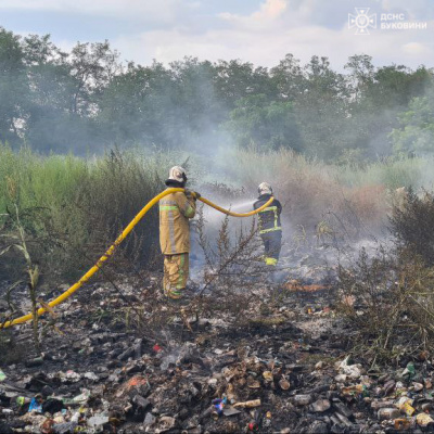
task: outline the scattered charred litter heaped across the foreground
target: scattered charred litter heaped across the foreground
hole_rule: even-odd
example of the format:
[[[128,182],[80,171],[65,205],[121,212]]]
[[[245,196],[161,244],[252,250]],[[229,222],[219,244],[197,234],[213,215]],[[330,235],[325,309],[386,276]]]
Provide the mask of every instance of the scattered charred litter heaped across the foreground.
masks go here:
[[[104,306],[112,298],[119,306],[113,293],[99,297]],[[266,299],[264,312],[252,318],[267,321],[255,323],[254,334],[242,330],[245,342],[224,320],[210,318],[195,323],[194,335],[184,330],[183,344],[176,331],[158,336],[164,347],[155,337],[138,340],[84,318],[84,339],[75,336],[71,348],[59,340],[59,347],[47,352],[42,372],[37,365],[26,369],[24,361],[8,367],[8,379],[0,370],[0,432],[3,421],[13,422],[16,432],[43,434],[373,434],[434,425],[432,355],[423,360],[413,355],[399,371],[375,366],[368,371],[362,358],[352,362],[339,330],[328,328],[333,318],[323,306],[329,305],[308,299],[297,304],[295,315],[284,302],[273,307]],[[294,326],[298,315],[309,321],[308,330]]]

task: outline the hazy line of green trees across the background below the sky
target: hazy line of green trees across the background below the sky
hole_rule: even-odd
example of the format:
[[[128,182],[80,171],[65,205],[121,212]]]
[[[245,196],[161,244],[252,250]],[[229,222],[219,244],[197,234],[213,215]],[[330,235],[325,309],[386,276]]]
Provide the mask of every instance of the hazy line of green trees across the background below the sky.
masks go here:
[[[290,148],[346,163],[434,151],[432,68],[286,54],[271,68],[195,58],[124,64],[108,41],[69,52],[0,27],[0,142],[41,153],[113,145]]]

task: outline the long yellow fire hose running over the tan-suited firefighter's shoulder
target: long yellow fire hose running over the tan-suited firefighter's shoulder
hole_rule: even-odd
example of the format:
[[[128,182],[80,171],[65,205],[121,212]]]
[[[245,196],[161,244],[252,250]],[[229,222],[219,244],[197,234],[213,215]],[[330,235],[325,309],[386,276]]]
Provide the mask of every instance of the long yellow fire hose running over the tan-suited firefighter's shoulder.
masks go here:
[[[100,268],[101,266],[113,255],[115,252],[116,247],[127,238],[127,235],[132,231],[135,226],[143,218],[143,216],[163,197],[167,196],[168,194],[176,193],[176,192],[183,192],[184,189],[167,189],[156,195],[153,200],[148,202],[148,204],[140,210],[140,213],[130,221],[130,224],[123,230],[120,235],[116,239],[116,241],[108,247],[108,250],[98,259],[97,264],[89,270],[87,271],[80,280],[78,280],[76,283],[74,283],[68,290],[66,290],[63,294],[61,294],[58,298],[54,298],[51,301],[48,305],[50,307],[58,306],[62,302],[64,302],[66,298],[71,297],[79,288],[81,288]],[[194,194],[194,193],[193,193]],[[265,209],[268,205],[271,204],[273,201],[273,197],[270,197],[270,200],[264,204],[260,208],[257,208],[255,210],[252,210],[250,213],[244,213],[244,214],[239,214],[239,213],[232,213],[229,209],[221,208],[220,206],[214,204],[213,202],[208,201],[205,197],[199,197],[200,201],[205,203],[206,205],[212,206],[213,208],[219,210],[220,213],[227,214],[228,216],[232,217],[250,217],[253,216],[263,209]],[[41,307],[38,309],[38,316],[41,316],[47,311],[46,308]],[[30,321],[33,319],[33,315],[28,314],[23,317],[16,318],[12,321],[7,321],[4,323],[0,323],[0,329],[7,329],[8,327],[15,326],[15,324],[21,324],[26,321]]]

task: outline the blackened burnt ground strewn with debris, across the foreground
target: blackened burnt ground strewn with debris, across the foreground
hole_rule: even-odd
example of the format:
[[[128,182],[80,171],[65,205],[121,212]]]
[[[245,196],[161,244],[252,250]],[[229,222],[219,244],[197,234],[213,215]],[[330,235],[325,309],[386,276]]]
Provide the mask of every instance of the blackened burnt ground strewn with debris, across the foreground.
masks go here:
[[[431,411],[431,363],[405,376],[343,362],[352,330],[336,315],[336,288],[308,283],[258,286],[261,303],[247,315],[216,309],[189,317],[191,330],[164,315],[163,301],[158,327],[139,328],[131,306],[146,311],[149,292],[88,285],[43,320],[43,359],[29,324],[3,332],[0,432],[430,431],[414,417]],[[395,406],[403,394],[411,417]],[[41,412],[28,412],[35,397]],[[215,399],[226,399],[222,410]]]

